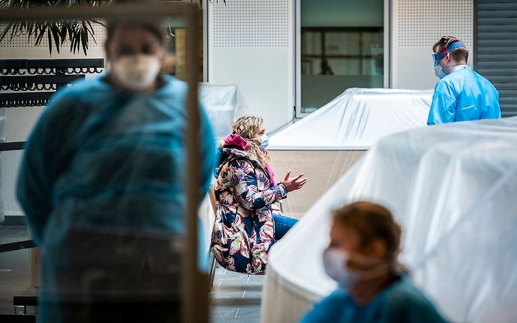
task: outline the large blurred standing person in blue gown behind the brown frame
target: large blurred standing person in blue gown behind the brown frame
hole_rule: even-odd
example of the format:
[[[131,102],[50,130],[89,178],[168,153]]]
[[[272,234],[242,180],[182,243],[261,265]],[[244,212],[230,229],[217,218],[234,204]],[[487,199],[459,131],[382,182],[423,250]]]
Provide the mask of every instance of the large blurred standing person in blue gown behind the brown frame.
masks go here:
[[[25,147],[17,195],[43,256],[40,322],[180,319],[187,85],[160,75],[161,24],[107,32],[109,73],[56,94]],[[216,149],[203,111],[200,133],[201,200]]]

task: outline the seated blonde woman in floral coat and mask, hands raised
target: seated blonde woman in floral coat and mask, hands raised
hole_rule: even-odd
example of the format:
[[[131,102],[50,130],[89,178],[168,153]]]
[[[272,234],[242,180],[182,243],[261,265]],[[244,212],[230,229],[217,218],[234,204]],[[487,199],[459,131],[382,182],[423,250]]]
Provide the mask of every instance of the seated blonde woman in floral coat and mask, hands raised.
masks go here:
[[[240,117],[232,131],[219,147],[212,250],[227,270],[263,274],[269,248],[298,221],[284,217],[273,204],[302,188],[307,179],[304,174],[290,177],[289,171],[280,183],[275,182],[261,118]]]

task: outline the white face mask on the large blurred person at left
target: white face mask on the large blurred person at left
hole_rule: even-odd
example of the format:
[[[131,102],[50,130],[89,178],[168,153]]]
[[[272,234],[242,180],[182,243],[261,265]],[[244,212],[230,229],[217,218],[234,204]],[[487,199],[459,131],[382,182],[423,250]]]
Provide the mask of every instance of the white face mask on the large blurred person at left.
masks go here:
[[[118,82],[133,91],[148,89],[160,72],[160,59],[154,55],[136,54],[113,61],[111,73]]]

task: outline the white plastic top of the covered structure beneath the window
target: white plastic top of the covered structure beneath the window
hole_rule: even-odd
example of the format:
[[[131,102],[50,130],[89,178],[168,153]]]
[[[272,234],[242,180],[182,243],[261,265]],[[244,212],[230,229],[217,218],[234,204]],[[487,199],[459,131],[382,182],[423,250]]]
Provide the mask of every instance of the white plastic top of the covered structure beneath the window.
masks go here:
[[[433,91],[349,88],[272,135],[270,150],[368,149],[381,137],[427,126]]]

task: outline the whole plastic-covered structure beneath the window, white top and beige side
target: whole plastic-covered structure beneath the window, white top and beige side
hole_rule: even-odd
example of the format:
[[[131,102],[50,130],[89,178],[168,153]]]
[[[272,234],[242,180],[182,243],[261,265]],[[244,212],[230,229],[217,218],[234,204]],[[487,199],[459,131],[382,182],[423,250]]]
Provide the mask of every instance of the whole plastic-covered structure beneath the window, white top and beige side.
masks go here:
[[[427,127],[432,91],[349,88],[309,116],[271,135],[271,167],[305,173],[303,190],[282,201],[298,218],[382,136]]]

